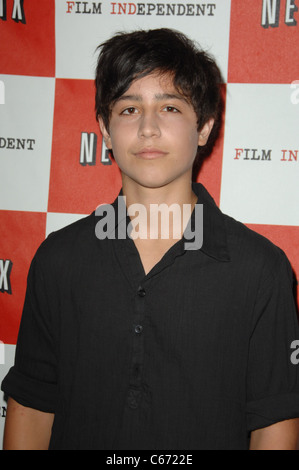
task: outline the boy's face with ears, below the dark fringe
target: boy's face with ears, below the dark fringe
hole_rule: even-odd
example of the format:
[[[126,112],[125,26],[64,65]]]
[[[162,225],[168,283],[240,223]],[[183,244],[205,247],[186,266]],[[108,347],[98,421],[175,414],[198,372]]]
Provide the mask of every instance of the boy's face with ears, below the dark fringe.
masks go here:
[[[193,106],[170,75],[157,73],[135,80],[114,103],[109,132],[100,119],[123,182],[147,188],[191,181],[197,147],[206,143],[212,126],[211,120],[198,131]]]

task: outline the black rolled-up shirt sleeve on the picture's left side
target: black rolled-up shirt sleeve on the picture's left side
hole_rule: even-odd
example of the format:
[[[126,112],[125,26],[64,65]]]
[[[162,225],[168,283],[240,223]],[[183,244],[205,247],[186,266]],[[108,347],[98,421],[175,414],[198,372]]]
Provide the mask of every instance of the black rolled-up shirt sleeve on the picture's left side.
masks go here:
[[[1,388],[23,406],[54,413],[57,357],[50,308],[50,281],[44,274],[45,267],[39,261],[40,250],[29,269],[15,363]]]

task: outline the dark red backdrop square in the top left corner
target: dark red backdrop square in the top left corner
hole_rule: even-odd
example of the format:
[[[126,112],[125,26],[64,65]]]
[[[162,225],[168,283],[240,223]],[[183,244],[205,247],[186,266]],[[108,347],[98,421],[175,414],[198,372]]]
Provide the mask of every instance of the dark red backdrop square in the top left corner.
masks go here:
[[[53,77],[55,0],[0,3],[1,73]]]

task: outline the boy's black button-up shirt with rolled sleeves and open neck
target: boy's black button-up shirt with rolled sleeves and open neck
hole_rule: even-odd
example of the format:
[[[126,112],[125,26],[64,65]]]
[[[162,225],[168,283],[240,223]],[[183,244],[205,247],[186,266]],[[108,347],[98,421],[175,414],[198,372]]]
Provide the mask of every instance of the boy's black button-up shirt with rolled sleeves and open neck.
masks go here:
[[[128,236],[96,237],[95,213],[38,249],[2,389],[55,413],[51,449],[247,449],[299,417],[290,264],[193,190],[202,247],[179,240],[147,275]]]

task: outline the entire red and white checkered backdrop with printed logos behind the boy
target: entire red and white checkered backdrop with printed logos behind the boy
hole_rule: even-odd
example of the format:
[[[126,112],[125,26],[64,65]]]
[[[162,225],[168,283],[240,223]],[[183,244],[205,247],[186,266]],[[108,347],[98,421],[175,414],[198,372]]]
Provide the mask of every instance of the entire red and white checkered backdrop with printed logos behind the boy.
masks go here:
[[[298,7],[299,0],[0,0],[0,382],[13,363],[37,247],[119,192],[93,85],[95,49],[119,30],[175,28],[217,59],[224,128],[198,180],[223,212],[280,246],[299,277]],[[5,407],[1,393],[0,438]]]

